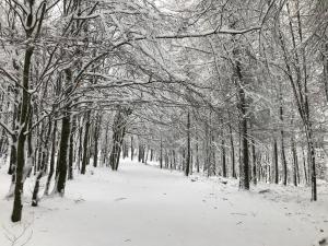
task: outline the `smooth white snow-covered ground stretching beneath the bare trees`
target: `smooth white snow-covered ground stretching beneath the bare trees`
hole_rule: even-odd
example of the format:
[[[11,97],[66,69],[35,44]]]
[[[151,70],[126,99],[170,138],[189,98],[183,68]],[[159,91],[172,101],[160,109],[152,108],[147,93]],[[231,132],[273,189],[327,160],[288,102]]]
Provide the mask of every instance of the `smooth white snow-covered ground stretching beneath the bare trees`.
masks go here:
[[[325,184],[313,203],[308,188],[238,191],[232,179],[186,178],[125,161],[117,173],[77,176],[65,198],[46,198],[38,208],[30,206],[27,181],[24,221],[12,224],[12,201],[3,199],[10,177],[4,167],[0,173],[1,246],[312,246],[328,235]]]

